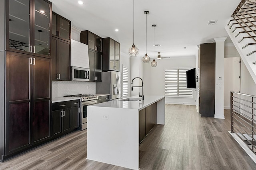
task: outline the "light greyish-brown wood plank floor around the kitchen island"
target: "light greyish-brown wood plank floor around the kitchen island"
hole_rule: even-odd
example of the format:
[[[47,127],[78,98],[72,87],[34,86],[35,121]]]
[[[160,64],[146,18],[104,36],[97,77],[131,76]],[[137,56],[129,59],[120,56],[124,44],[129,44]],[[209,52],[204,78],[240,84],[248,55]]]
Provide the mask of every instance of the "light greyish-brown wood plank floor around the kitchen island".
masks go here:
[[[140,145],[141,170],[255,170],[228,133],[226,119],[200,117],[195,106],[166,104],[166,125],[156,125]],[[1,170],[124,170],[86,160],[87,130],[0,162]]]

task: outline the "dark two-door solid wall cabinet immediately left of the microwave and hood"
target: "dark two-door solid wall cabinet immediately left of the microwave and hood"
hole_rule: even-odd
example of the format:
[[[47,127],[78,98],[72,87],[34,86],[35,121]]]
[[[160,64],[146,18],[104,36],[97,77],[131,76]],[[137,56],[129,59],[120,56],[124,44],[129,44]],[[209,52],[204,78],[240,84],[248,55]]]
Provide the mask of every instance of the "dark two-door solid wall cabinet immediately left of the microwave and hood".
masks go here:
[[[70,81],[70,43],[52,37],[52,80]]]

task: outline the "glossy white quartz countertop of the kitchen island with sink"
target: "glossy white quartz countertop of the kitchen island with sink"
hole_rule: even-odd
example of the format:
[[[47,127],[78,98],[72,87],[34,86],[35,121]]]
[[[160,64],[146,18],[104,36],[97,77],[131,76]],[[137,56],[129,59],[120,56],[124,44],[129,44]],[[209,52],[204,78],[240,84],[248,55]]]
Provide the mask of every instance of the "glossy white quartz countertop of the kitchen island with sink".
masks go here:
[[[144,109],[147,106],[165,98],[165,96],[144,96],[144,100],[141,100],[139,96],[131,96],[129,98],[140,98],[138,101],[122,101],[126,98],[115,99],[109,102],[104,102],[100,104],[90,105],[90,107],[111,107],[111,108],[123,108],[123,109]],[[89,107],[89,106],[88,106]]]

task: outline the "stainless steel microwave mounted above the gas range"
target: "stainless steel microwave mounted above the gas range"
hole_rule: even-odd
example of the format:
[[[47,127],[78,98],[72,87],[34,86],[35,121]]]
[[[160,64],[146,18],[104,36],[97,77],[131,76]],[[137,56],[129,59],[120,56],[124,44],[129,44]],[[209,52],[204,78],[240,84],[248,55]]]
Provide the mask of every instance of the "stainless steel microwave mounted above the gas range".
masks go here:
[[[90,80],[90,69],[81,67],[71,67],[72,81],[89,81]]]

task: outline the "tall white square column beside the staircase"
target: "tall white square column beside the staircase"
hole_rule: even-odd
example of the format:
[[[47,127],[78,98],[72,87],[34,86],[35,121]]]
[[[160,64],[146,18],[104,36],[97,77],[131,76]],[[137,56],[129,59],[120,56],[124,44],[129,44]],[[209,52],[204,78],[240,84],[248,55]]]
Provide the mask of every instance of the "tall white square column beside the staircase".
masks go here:
[[[215,59],[215,114],[214,118],[224,117],[224,42],[227,37],[214,38],[216,43]]]

